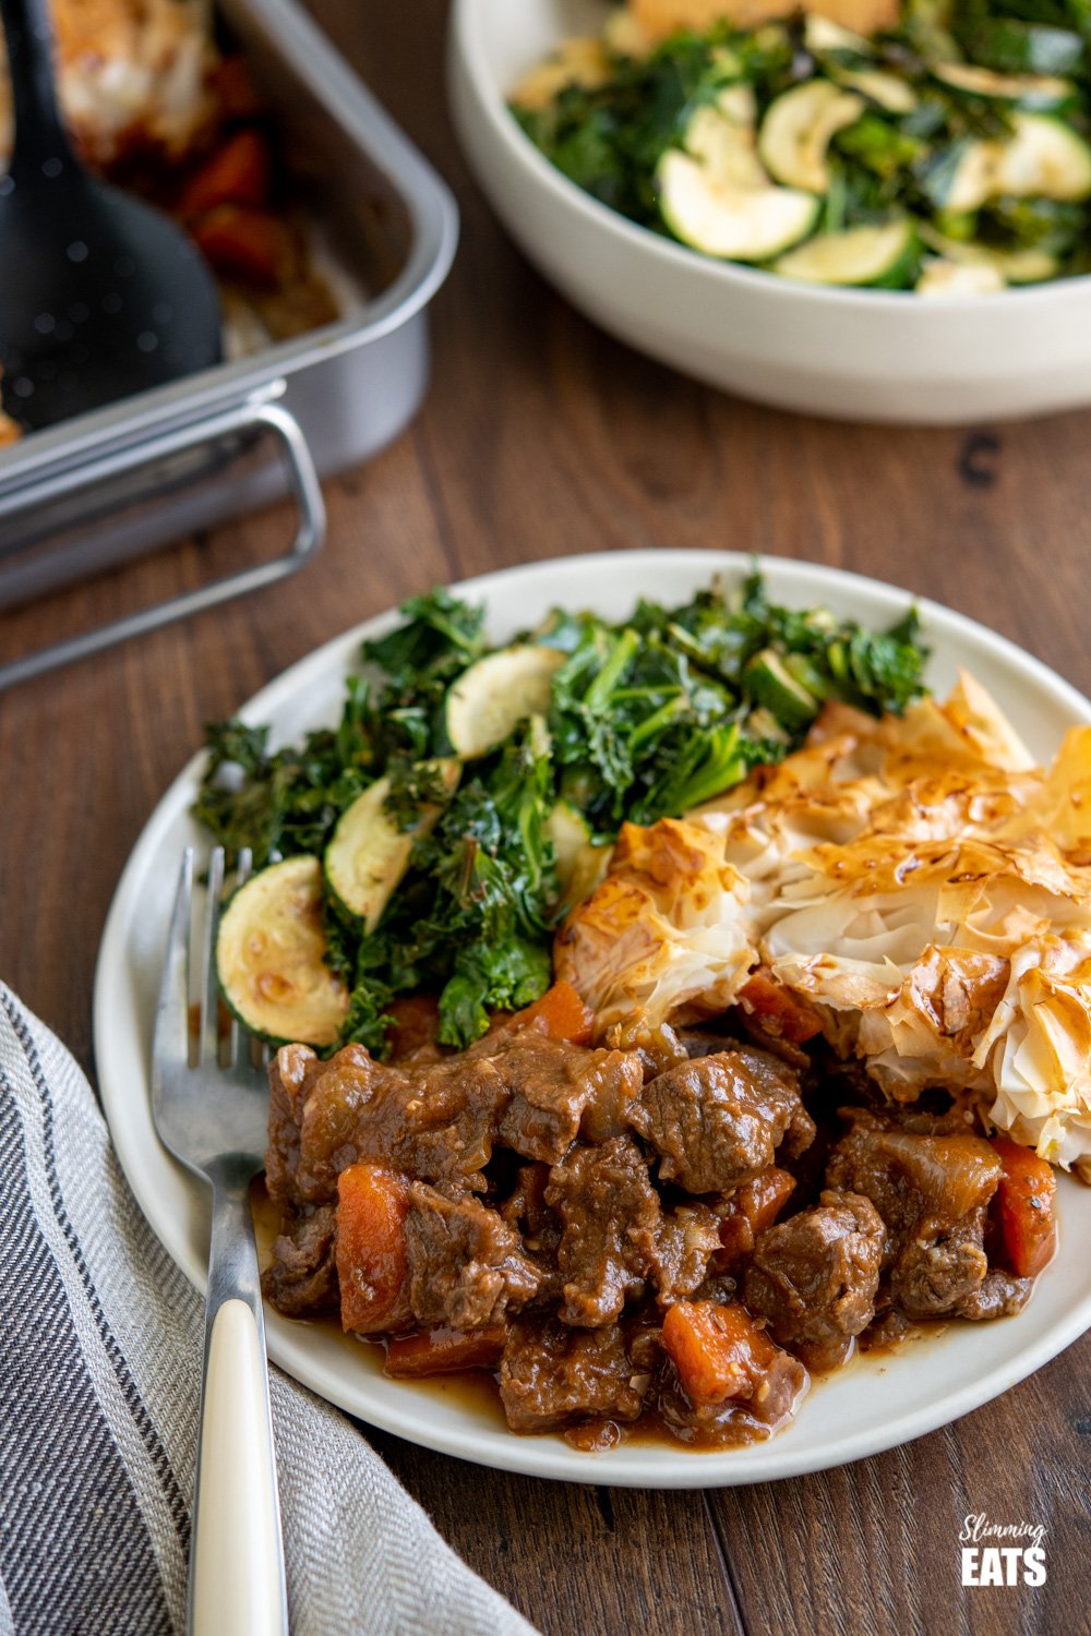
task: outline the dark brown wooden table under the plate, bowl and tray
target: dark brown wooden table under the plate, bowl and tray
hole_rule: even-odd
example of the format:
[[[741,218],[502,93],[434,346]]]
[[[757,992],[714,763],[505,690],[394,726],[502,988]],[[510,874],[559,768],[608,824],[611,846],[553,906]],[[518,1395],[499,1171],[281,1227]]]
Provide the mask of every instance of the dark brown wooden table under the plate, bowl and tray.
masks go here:
[[[671,375],[572,312],[492,221],[445,115],[442,0],[316,11],[461,203],[435,380],[393,448],[327,486],[329,545],[303,578],[0,699],[0,975],[88,1068],[110,895],[201,725],[437,581],[643,545],[805,556],[937,597],[1091,692],[1091,414],[972,434],[846,427]],[[0,651],[188,587],[286,528],[280,509],[7,615]],[[548,1633],[1076,1633],[1091,1629],[1089,1366],[1084,1338],[908,1448],[710,1494],[535,1482],[375,1441]],[[960,1589],[970,1512],[1044,1523],[1047,1584]]]

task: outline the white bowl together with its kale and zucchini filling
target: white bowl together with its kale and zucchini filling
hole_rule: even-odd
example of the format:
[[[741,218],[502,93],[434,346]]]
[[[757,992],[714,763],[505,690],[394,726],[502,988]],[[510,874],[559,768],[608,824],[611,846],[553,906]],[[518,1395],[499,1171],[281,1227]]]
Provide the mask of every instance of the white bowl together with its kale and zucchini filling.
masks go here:
[[[653,38],[649,10],[455,8],[471,164],[577,306],[810,412],[1091,401],[1084,0],[906,0],[870,34],[798,11]]]

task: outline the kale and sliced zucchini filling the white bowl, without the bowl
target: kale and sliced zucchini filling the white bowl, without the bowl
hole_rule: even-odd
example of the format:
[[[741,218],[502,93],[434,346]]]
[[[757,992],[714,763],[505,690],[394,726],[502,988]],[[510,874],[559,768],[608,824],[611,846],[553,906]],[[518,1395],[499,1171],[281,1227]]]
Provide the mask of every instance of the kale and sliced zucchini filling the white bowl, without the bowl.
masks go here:
[[[1078,8],[633,0],[514,88],[604,204],[803,283],[980,296],[1084,273]]]

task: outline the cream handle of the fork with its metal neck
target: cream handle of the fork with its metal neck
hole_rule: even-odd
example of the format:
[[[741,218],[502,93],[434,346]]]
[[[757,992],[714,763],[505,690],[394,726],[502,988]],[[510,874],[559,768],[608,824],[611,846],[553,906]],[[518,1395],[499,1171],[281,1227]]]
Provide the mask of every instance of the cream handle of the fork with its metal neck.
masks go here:
[[[249,1166],[213,1173],[204,1381],[198,1445],[191,1636],[286,1636],[273,1425]],[[245,1175],[244,1175],[245,1170]]]

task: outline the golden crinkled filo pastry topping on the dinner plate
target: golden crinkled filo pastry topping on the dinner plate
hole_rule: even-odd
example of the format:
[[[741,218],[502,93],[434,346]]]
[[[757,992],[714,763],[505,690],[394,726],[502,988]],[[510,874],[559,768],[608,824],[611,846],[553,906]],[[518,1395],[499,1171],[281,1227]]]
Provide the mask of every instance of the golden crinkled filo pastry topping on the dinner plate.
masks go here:
[[[626,825],[556,970],[605,1032],[715,1016],[757,965],[888,1098],[942,1085],[1091,1181],[1091,726],[1035,767],[970,676],[829,705],[718,802]]]

